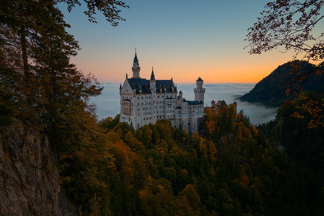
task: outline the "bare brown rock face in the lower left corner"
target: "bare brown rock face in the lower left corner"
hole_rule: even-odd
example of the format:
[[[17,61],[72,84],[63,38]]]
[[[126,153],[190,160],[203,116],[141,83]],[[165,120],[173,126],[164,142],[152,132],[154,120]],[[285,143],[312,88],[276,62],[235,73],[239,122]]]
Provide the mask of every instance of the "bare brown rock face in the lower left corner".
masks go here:
[[[46,135],[15,120],[0,128],[0,144],[0,215],[76,215]]]

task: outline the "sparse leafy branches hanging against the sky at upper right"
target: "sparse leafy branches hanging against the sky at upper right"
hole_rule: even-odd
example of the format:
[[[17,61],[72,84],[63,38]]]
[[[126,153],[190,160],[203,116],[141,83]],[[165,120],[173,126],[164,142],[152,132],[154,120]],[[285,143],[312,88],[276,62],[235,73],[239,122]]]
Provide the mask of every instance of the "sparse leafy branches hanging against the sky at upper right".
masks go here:
[[[272,49],[283,48],[287,52],[294,50],[294,58],[303,55],[302,59],[317,62],[310,70],[301,71],[300,65],[295,64],[297,72],[293,78],[287,80],[289,85],[297,85],[299,90],[311,74],[323,74],[324,68],[324,41],[323,33],[313,36],[312,30],[322,22],[320,16],[323,0],[277,0],[268,3],[266,10],[261,12],[262,17],[254,27],[248,29],[250,54],[261,54]],[[320,25],[320,24],[318,24]],[[319,63],[318,63],[319,62]],[[288,86],[289,87],[289,86]],[[289,91],[289,88],[288,88]]]

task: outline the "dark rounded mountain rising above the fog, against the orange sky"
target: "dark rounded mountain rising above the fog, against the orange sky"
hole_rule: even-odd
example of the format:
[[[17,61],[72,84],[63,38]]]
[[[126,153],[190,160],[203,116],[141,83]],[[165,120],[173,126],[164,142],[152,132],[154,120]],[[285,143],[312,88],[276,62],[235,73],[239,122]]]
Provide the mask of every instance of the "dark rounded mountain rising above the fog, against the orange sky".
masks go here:
[[[263,103],[267,106],[278,107],[286,100],[291,100],[300,91],[316,91],[321,93],[324,80],[320,75],[309,75],[306,82],[300,86],[299,74],[310,71],[315,65],[307,61],[295,60],[278,66],[267,77],[259,81],[254,88],[239,99],[248,102]],[[294,78],[293,78],[294,77]],[[294,82],[294,79],[295,82]]]

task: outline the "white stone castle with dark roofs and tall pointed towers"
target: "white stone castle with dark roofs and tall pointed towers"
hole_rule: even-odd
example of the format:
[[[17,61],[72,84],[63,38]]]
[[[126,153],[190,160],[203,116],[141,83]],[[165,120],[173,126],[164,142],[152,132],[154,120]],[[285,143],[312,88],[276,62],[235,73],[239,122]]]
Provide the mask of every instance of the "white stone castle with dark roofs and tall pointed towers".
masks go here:
[[[156,80],[152,73],[150,80],[140,77],[140,64],[135,51],[133,77],[120,85],[121,114],[120,123],[133,124],[135,128],[156,124],[158,120],[168,120],[175,127],[182,125],[188,133],[198,130],[199,120],[203,117],[204,93],[203,80],[199,77],[194,88],[194,99],[186,100],[179,95],[173,79]]]

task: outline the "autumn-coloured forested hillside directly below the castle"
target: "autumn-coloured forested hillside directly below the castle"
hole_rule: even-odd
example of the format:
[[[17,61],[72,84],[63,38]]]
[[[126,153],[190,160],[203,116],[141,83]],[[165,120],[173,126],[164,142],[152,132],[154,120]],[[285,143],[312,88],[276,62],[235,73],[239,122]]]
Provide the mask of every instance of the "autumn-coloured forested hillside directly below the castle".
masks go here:
[[[82,160],[62,172],[76,206],[92,194],[98,212],[112,215],[322,213],[322,173],[269,145],[233,107],[207,111],[202,137],[167,121],[134,131],[118,118],[100,122],[110,166],[100,156],[87,165],[89,173],[72,169]]]

